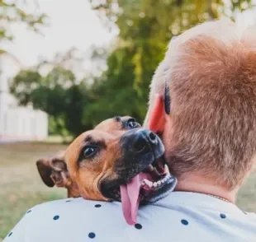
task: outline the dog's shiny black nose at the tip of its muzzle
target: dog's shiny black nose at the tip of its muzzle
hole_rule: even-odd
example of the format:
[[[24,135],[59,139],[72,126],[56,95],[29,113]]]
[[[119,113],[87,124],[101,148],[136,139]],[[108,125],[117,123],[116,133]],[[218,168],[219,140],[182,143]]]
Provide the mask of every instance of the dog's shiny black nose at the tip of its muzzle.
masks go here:
[[[148,129],[139,129],[135,133],[133,149],[135,152],[148,152],[150,147],[158,144],[156,135]]]

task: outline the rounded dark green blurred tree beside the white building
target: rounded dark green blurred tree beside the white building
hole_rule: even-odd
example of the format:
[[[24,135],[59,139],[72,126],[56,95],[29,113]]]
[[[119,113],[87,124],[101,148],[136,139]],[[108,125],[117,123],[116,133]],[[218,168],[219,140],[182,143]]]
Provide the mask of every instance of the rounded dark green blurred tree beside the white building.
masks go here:
[[[78,135],[83,130],[83,109],[86,88],[76,84],[73,72],[64,67],[54,67],[45,77],[28,69],[13,78],[10,85],[12,94],[21,105],[33,103],[50,115],[50,133]]]

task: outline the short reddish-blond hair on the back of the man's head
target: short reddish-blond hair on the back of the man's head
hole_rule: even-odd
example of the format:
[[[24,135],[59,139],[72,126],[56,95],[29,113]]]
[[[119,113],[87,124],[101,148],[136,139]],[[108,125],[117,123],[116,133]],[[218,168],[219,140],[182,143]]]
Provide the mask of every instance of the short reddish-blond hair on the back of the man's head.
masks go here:
[[[173,174],[237,188],[256,151],[256,30],[213,21],[173,40],[151,84],[146,125],[165,81],[171,128],[164,128],[164,142]]]

